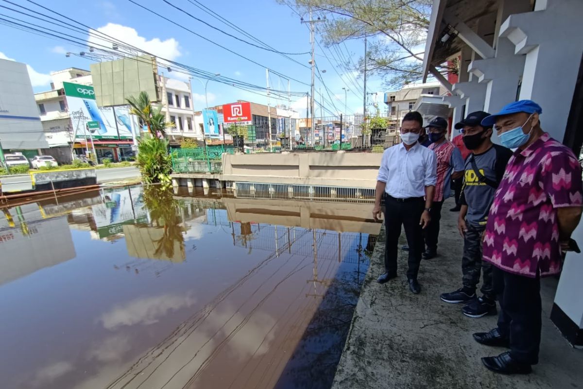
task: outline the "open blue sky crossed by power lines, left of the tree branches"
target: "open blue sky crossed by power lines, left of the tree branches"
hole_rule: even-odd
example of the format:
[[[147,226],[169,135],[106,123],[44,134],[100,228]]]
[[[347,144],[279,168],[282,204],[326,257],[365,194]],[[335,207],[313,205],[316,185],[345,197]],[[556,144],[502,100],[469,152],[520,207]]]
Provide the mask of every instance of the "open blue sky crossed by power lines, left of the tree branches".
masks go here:
[[[58,20],[66,21],[61,16],[38,8],[30,0],[10,1],[26,8],[37,10],[43,17],[51,16]],[[223,76],[243,80],[254,85],[265,86],[265,67],[267,66],[288,78],[296,79],[290,81],[290,89],[293,92],[308,92],[310,90],[309,54],[289,56],[300,62],[298,64],[275,52],[252,47],[236,38],[229,37],[172,6],[174,5],[229,34],[250,41],[249,38],[242,36],[238,31],[214,19],[208,13],[204,13],[196,6],[196,0],[135,0],[136,3],[145,6],[145,8],[173,20],[178,26],[161,19],[157,15],[153,15],[147,9],[132,3],[131,0],[94,0],[90,2],[71,2],[70,0],[33,1],[119,40],[152,52],[152,54],[181,62],[203,71],[220,73]],[[310,33],[307,26],[300,22],[300,16],[294,13],[293,10],[285,5],[280,5],[276,0],[223,0],[220,2],[198,0],[198,2],[216,12],[221,19],[228,20],[278,51],[290,53],[310,51]],[[74,6],[72,6],[73,4]],[[31,13],[29,10],[18,8],[6,0],[0,0],[0,6],[18,9],[27,14]],[[86,41],[89,39],[87,31],[65,30],[54,24],[31,19],[27,15],[22,15],[22,13],[16,13],[6,8],[0,8],[0,18],[9,20],[14,20],[14,18],[22,19],[28,23],[33,23],[30,25],[34,28],[37,28],[34,24],[41,26],[44,31],[57,29],[72,34],[79,40]],[[208,38],[210,42],[182,29],[180,26]],[[56,37],[39,36],[14,29],[6,26],[3,22],[0,24],[0,34],[5,37],[0,46],[0,58],[13,59],[29,65],[29,74],[34,92],[43,92],[50,89],[50,72],[71,67],[89,69],[92,62],[90,59],[80,58],[75,55],[66,57],[66,52],[78,53],[83,49]],[[327,110],[324,111],[325,116],[345,111],[345,94],[347,113],[361,113],[363,111],[362,78],[354,69],[347,68],[347,66],[339,63],[340,61],[336,58],[340,57],[340,54],[336,50],[340,50],[342,55],[356,63],[364,51],[363,41],[348,41],[346,44],[328,50],[321,43],[319,34],[317,34],[317,40],[322,48],[318,44],[315,45],[315,62],[321,72],[325,71],[321,75],[325,85],[328,87],[331,98],[328,97],[328,92],[325,91],[322,83],[317,80],[315,83],[315,96],[317,97],[316,116],[319,116],[321,111],[318,105],[318,101],[321,100],[319,98],[320,89],[325,99],[333,101],[333,104],[331,102],[324,103],[324,108]],[[237,52],[240,56],[226,51],[213,43],[223,45]],[[253,64],[248,59],[258,62],[259,65]],[[307,68],[301,66],[301,64],[305,64]],[[165,75],[183,80],[188,78],[187,75],[177,72],[166,72]],[[356,77],[356,79],[353,77]],[[203,80],[203,82],[205,81]],[[273,73],[270,76],[270,83],[273,89],[287,89],[287,79]],[[342,89],[343,87],[349,92],[345,92]],[[382,109],[382,106],[384,106],[382,104],[382,80],[378,77],[368,77],[367,92],[378,92],[376,96],[369,97],[369,102],[372,103],[374,99],[377,99]],[[205,90],[201,82],[192,81],[192,93],[195,110],[202,109],[205,101]],[[263,104],[267,102],[264,94],[253,94],[215,81],[208,83],[209,106],[229,103],[239,99]],[[278,100],[272,97],[270,103],[272,106],[276,104],[287,105],[287,99]],[[296,108],[302,115],[305,114],[305,106],[305,97],[291,97],[291,107]]]

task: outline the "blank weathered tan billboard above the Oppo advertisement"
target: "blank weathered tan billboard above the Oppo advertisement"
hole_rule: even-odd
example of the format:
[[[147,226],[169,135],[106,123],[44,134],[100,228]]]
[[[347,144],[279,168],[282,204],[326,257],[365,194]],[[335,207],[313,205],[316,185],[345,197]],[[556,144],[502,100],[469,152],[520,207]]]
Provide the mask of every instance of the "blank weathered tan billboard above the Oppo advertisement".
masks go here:
[[[97,105],[123,106],[125,99],[146,92],[152,101],[160,101],[158,68],[151,55],[91,64]]]

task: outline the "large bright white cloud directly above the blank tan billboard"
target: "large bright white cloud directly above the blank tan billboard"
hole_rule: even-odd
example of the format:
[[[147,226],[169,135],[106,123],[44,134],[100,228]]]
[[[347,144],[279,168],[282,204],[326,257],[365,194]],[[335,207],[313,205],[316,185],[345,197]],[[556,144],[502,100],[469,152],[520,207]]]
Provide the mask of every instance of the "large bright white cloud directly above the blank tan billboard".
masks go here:
[[[152,38],[147,40],[147,38],[139,36],[138,31],[134,28],[115,23],[107,23],[105,26],[99,27],[97,31],[132,45],[139,50],[150,52],[151,54],[156,55],[156,57],[173,61],[181,55],[180,44],[178,44],[178,41],[174,38],[168,38],[166,40]],[[89,45],[95,45],[97,48],[102,48],[100,45],[112,47],[111,41],[105,40],[101,36],[98,37],[95,33],[89,33],[87,43],[89,43]],[[120,47],[120,51],[128,50],[124,50],[123,47]]]

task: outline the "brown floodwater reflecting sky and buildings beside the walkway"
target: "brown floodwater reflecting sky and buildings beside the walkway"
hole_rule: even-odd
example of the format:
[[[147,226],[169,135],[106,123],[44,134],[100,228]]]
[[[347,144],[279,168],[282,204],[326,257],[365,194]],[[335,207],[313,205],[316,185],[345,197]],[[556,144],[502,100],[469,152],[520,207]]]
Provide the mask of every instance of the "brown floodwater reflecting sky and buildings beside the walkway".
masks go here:
[[[329,388],[370,208],[154,186],[3,208],[0,387]]]

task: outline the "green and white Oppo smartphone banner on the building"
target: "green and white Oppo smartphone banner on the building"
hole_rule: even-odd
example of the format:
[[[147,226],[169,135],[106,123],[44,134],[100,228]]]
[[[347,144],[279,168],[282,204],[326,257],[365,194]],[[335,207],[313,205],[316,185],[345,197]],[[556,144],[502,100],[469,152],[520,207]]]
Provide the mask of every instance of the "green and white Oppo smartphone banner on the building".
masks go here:
[[[90,133],[93,139],[132,139],[128,106],[97,107],[93,86],[64,82],[63,88],[76,139],[87,139]],[[99,127],[89,129],[87,122],[97,122]]]

